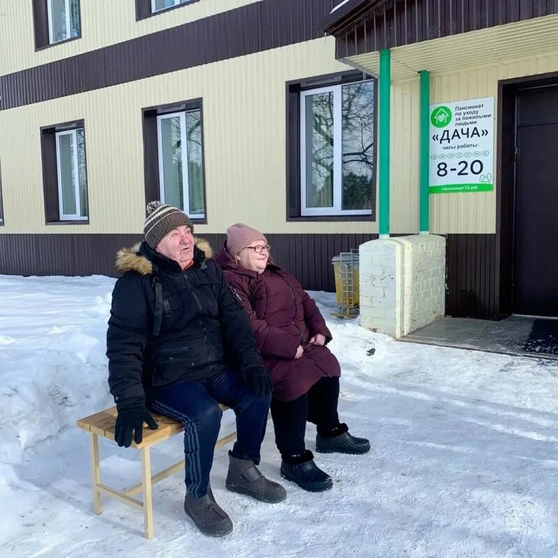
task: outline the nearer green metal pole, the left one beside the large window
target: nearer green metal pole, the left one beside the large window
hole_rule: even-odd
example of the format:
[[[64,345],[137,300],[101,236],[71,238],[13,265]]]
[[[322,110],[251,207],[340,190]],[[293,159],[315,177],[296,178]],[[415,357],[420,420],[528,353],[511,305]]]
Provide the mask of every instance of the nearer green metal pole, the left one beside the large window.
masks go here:
[[[379,237],[389,238],[391,52],[379,52]]]

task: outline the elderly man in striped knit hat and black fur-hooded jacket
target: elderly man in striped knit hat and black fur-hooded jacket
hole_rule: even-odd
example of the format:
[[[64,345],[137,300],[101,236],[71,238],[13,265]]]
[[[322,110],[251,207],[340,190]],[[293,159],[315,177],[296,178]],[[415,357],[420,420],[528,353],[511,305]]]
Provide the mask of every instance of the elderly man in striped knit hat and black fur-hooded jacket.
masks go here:
[[[109,385],[118,409],[119,446],[157,428],[148,409],[184,425],[186,514],[204,534],[224,536],[232,522],[209,485],[221,411],[234,409],[237,441],[226,487],[262,502],[285,489],[257,469],[271,401],[271,382],[246,312],[211,259],[205,241],[176,207],[151,202],[145,241],[121,250],[107,331]],[[200,248],[201,247],[201,248]]]

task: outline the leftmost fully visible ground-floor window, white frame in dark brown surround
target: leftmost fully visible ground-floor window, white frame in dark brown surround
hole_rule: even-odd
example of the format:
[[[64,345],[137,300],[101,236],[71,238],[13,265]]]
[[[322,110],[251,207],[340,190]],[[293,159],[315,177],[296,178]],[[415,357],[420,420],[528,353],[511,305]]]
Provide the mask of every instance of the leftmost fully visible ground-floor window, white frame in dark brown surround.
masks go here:
[[[85,172],[85,200],[87,216],[66,216],[63,218],[61,192],[59,183],[59,149],[56,135],[68,133],[72,130],[83,130],[84,172]],[[77,133],[76,133],[77,141]],[[89,179],[87,175],[87,145],[84,120],[52,124],[40,128],[40,146],[43,162],[43,196],[45,204],[45,225],[89,225],[91,206],[89,205]],[[77,150],[75,151],[77,157]],[[76,166],[77,169],[77,166]],[[76,183],[74,184],[76,188]],[[77,174],[77,191],[79,193],[79,171]],[[80,202],[81,203],[81,202]],[[77,206],[76,206],[77,207]]]

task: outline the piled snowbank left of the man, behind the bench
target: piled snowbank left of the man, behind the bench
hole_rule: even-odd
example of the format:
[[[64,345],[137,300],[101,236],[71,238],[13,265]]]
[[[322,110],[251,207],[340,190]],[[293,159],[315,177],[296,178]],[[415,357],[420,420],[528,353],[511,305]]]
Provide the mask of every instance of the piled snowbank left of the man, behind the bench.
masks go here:
[[[114,280],[0,278],[0,462],[110,402],[105,335]]]

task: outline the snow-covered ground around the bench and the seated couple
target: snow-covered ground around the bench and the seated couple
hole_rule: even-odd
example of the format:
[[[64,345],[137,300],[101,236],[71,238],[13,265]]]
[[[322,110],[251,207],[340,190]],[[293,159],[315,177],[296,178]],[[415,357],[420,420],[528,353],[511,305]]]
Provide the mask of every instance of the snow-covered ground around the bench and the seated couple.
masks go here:
[[[205,538],[186,519],[181,474],[154,488],[151,541],[127,506],[103,499],[94,515],[89,440],[75,419],[112,405],[113,284],[0,276],[3,558],[558,556],[558,363],[394,342],[329,317],[324,293],[314,296],[342,363],[341,418],[373,446],[364,456],[317,454],[332,490],[285,481],[287,500],[275,506],[234,495],[222,448],[212,485],[230,536]],[[180,438],[153,451],[153,467],[180,458]],[[137,452],[102,442],[105,480],[135,483]],[[307,442],[313,449],[312,428]],[[262,455],[263,472],[280,481],[271,423]]]

